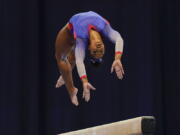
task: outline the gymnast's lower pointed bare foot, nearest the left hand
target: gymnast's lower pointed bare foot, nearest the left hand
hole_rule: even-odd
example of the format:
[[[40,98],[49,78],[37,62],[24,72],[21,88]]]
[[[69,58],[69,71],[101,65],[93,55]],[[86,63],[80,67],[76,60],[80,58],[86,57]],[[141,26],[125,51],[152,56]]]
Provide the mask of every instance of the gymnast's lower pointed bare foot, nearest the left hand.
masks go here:
[[[78,102],[78,99],[77,99],[77,93],[78,93],[78,89],[75,88],[75,87],[74,87],[71,91],[69,91],[69,95],[70,95],[71,102],[72,102],[75,106],[78,106],[78,105],[79,105],[79,102]]]

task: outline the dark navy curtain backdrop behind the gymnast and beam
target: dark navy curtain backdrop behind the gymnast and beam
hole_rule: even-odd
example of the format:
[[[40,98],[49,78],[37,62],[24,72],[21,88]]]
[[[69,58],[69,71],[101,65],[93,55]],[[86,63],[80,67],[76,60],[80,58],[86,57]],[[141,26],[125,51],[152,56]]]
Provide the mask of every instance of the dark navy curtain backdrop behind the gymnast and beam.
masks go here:
[[[57,32],[69,18],[96,11],[124,39],[124,79],[110,74],[114,45],[103,66],[88,63],[97,88],[74,107],[54,57]],[[0,135],[55,135],[141,115],[157,118],[156,135],[179,135],[180,2],[178,0],[1,0]]]

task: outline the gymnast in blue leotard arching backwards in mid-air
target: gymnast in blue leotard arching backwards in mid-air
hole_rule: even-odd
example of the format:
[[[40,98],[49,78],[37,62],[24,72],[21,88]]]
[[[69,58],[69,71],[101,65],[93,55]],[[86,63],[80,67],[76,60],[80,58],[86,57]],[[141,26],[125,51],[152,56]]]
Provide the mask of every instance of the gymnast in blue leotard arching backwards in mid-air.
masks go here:
[[[88,81],[84,59],[86,50],[89,50],[89,60],[92,65],[102,63],[105,47],[102,36],[115,44],[114,61],[111,73],[116,72],[119,79],[123,78],[124,70],[121,63],[123,53],[123,39],[119,32],[114,30],[110,23],[99,14],[89,11],[72,16],[69,22],[58,32],[55,43],[55,57],[60,72],[56,88],[65,84],[71,102],[78,106],[77,92],[72,78],[72,70],[77,67],[83,86],[83,98],[90,100],[90,90],[96,88]]]

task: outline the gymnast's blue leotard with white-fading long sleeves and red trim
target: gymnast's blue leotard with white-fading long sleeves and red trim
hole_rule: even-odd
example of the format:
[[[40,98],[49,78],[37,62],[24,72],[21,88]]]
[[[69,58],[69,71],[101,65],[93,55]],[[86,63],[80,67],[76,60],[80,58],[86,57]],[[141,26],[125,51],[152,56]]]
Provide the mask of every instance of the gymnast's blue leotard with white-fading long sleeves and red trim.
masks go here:
[[[101,35],[107,37],[116,44],[115,51],[123,50],[123,42],[120,34],[112,29],[109,22],[99,14],[89,11],[72,16],[68,23],[68,28],[72,31],[76,39],[75,59],[78,74],[80,77],[86,76],[84,66],[85,50],[89,41],[89,30],[95,29]]]

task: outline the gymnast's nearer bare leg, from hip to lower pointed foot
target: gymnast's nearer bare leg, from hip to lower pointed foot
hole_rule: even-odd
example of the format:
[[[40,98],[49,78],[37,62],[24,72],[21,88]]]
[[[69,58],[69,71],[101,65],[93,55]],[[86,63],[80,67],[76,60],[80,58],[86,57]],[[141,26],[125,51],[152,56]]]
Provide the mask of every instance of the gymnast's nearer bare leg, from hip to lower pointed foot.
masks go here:
[[[64,79],[66,88],[70,95],[71,102],[77,106],[78,100],[76,95],[78,89],[73,84],[72,67],[67,59],[68,54],[72,51],[73,45],[73,35],[66,25],[57,35],[55,44],[55,56],[59,72],[61,73],[62,78]]]

